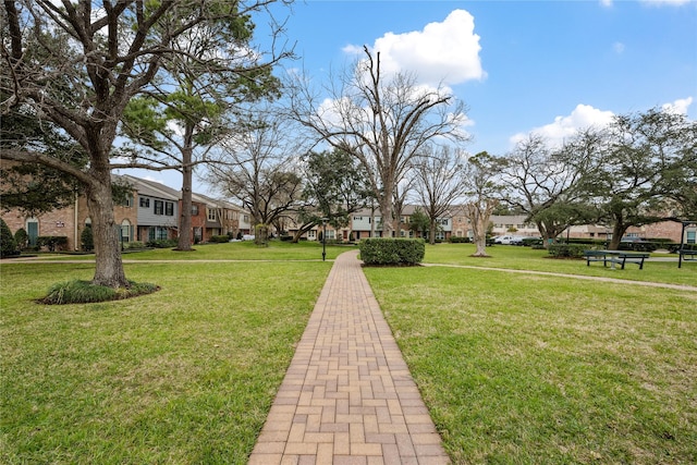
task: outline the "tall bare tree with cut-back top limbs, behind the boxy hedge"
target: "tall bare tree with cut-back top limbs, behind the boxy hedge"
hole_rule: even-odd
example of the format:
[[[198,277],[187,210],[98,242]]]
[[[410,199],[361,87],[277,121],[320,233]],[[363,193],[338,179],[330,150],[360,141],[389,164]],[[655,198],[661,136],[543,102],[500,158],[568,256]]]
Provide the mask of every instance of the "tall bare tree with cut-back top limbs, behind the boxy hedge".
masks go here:
[[[387,79],[380,53],[367,47],[364,51],[365,59],[326,89],[329,105],[303,76],[291,83],[290,118],[360,161],[380,206],[383,232],[391,236],[395,185],[429,142],[467,138],[460,131],[465,106],[451,105],[452,97],[442,88],[417,85],[415,75],[400,72]]]

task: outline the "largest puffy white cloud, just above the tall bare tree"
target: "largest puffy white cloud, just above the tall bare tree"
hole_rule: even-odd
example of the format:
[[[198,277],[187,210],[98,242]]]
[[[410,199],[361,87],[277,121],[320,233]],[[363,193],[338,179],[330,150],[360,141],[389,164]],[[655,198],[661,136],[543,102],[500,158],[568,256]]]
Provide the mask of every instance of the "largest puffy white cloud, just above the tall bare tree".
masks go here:
[[[372,50],[380,52],[386,74],[414,72],[419,82],[431,86],[481,81],[487,74],[481,69],[481,46],[474,29],[474,16],[454,10],[442,23],[429,23],[423,30],[387,33],[376,39]],[[360,50],[356,46],[344,48],[348,53]]]

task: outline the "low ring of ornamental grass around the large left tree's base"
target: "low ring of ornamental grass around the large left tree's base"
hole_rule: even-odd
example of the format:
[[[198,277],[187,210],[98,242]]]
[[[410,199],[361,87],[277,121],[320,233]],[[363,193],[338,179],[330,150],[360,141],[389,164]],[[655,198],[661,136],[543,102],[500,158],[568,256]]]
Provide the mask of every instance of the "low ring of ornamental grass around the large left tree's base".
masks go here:
[[[129,287],[109,287],[93,284],[89,281],[73,280],[53,284],[48,295],[39,303],[47,305],[89,304],[96,302],[120,301],[122,298],[151,294],[159,290],[155,284],[130,281]]]

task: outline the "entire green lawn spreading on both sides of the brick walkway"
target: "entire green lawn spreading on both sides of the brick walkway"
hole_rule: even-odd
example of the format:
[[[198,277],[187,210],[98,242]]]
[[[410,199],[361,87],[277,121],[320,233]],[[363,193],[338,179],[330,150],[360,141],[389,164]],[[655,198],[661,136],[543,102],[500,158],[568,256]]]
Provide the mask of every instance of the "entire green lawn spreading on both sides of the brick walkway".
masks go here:
[[[0,463],[245,463],[331,262],[314,243],[196,248],[124,255],[162,290],[86,305],[33,301],[90,279],[89,257],[2,261]],[[472,252],[365,269],[455,463],[697,462],[696,292],[463,268],[694,285],[697,264]]]

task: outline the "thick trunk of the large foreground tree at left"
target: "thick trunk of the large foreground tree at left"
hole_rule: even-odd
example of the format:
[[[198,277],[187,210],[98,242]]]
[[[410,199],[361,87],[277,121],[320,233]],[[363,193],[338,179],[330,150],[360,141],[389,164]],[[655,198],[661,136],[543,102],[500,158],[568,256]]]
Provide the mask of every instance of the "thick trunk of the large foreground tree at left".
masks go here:
[[[86,188],[87,207],[91,218],[91,230],[95,242],[95,277],[94,284],[109,287],[127,287],[121,260],[120,224],[113,216],[111,196],[111,173],[109,169],[93,169],[94,182]]]

